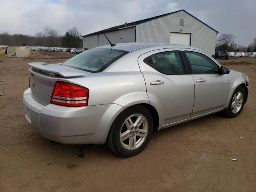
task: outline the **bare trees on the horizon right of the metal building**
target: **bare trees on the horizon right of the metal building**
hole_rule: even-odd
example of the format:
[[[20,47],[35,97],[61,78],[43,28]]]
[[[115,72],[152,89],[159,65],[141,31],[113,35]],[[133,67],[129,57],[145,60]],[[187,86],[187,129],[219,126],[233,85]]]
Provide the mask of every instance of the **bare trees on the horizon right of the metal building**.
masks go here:
[[[243,52],[256,52],[256,38],[253,39],[252,43],[250,43],[247,47],[242,46],[240,44],[236,44],[235,42],[236,36],[233,34],[221,34],[217,39],[216,43],[216,51],[243,51]]]

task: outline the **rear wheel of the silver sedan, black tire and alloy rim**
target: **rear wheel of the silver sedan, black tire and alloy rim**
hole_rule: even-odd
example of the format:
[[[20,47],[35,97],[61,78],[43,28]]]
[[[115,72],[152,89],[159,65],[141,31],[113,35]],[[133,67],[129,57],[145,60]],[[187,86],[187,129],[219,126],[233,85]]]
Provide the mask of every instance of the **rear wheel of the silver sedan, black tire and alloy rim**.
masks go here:
[[[150,112],[138,105],[127,108],[116,117],[106,143],[117,155],[131,157],[144,150],[152,132],[153,119]]]

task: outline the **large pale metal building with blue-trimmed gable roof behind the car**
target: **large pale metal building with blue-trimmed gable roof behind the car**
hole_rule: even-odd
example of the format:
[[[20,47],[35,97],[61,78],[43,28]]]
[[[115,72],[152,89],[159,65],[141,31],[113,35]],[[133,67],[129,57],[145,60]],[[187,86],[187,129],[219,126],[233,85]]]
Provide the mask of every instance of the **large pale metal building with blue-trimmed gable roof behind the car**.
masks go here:
[[[218,31],[185,10],[179,10],[84,35],[84,48],[109,44],[104,34],[112,43],[182,44],[200,48],[212,55]]]

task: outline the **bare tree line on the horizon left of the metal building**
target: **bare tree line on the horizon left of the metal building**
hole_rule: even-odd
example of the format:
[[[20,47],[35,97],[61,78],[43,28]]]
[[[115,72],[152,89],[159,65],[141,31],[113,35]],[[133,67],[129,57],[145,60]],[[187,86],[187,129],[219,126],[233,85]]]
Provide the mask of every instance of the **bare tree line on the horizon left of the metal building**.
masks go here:
[[[67,30],[64,36],[61,36],[58,30],[46,25],[41,32],[36,32],[34,36],[24,34],[0,33],[0,45],[18,45],[21,46],[46,46],[46,47],[82,47],[81,33],[76,27]]]

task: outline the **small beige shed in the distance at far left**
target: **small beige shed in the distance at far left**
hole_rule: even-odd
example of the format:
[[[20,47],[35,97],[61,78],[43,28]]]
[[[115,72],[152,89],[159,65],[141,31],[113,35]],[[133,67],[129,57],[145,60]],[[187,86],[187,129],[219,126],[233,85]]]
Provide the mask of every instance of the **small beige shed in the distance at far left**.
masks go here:
[[[27,46],[8,46],[5,54],[7,57],[30,57],[30,50]]]

